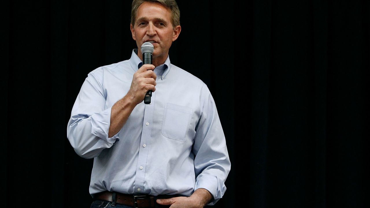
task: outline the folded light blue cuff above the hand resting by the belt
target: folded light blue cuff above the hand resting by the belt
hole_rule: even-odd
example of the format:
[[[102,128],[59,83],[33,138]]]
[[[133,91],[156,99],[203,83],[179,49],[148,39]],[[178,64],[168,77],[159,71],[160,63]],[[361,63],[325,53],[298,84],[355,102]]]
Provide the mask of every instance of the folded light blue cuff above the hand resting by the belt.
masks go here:
[[[207,205],[214,205],[219,199],[222,198],[226,191],[226,186],[222,180],[215,175],[202,175],[197,178],[194,190],[198,188],[207,189],[213,196],[213,201]]]

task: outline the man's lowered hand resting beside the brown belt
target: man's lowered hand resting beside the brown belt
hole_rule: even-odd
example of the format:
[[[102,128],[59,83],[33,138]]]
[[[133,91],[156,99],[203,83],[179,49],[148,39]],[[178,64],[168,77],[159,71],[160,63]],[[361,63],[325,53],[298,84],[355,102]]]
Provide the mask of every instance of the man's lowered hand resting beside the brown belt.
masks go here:
[[[160,205],[171,205],[170,208],[203,208],[211,201],[212,195],[207,189],[199,188],[190,197],[157,199]]]

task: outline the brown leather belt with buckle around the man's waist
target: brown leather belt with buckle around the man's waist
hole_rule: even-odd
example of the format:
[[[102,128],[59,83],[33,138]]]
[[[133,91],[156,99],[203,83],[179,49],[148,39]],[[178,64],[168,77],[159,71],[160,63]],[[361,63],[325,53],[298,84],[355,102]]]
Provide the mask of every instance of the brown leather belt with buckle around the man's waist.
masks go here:
[[[155,200],[157,199],[168,199],[172,197],[178,197],[178,195],[131,195],[131,194],[121,194],[119,192],[104,191],[94,194],[94,199],[105,200],[113,202],[113,193],[115,193],[115,203],[123,204],[126,206],[136,207],[136,208],[148,208],[156,207],[157,204]],[[157,207],[169,207],[157,204]]]

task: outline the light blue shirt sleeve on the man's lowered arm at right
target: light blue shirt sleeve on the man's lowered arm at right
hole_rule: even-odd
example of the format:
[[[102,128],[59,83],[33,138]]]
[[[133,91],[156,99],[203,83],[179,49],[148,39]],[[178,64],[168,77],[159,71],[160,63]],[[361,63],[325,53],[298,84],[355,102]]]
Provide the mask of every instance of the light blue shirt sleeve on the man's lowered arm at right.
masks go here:
[[[196,174],[194,189],[207,189],[214,199],[208,205],[213,205],[225,194],[225,180],[231,163],[216,105],[208,88],[205,94],[208,96],[203,96],[203,111],[193,147]]]

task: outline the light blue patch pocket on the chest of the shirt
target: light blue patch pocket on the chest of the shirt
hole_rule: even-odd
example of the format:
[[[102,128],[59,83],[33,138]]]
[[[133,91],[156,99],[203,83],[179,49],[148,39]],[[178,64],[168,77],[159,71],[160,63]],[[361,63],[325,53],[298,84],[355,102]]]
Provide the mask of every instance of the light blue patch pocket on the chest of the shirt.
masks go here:
[[[164,108],[162,134],[170,139],[185,141],[193,109],[172,103]]]

